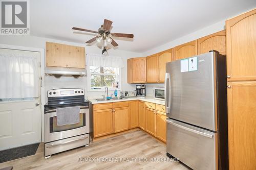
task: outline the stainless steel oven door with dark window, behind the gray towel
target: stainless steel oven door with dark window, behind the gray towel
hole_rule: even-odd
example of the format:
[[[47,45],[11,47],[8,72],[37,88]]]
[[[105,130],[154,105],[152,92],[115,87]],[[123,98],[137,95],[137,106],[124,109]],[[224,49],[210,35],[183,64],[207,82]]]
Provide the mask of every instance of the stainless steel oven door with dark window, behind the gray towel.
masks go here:
[[[80,108],[80,122],[57,126],[56,110],[45,113],[45,143],[89,133],[89,108]]]

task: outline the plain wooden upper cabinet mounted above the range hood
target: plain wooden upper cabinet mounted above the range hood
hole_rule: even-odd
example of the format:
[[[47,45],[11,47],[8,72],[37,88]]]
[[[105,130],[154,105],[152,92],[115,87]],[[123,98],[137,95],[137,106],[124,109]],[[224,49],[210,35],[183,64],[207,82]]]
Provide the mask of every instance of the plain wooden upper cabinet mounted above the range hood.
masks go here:
[[[46,42],[46,66],[85,68],[85,53],[84,47]]]

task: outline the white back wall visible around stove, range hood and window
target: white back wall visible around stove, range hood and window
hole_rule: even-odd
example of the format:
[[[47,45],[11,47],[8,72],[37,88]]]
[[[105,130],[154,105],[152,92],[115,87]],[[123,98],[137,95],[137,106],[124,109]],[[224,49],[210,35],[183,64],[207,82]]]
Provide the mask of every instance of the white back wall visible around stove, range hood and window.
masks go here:
[[[59,41],[55,39],[35,37],[35,36],[0,36],[1,44],[10,44],[10,45],[18,45],[18,46],[27,46],[27,47],[35,47],[35,48],[43,48],[45,49],[46,41],[49,42],[57,42],[69,45],[77,45],[84,46],[86,48],[86,53],[93,54],[102,54],[102,50],[97,46],[87,46],[86,44],[79,44],[67,41]],[[121,68],[121,88],[124,91],[135,90],[135,85],[127,83],[127,67],[126,60],[133,57],[141,57],[141,53],[133,53],[121,50],[113,50],[110,49],[109,55],[122,57],[124,68]],[[87,90],[87,77],[81,77],[75,79],[73,77],[61,77],[60,79],[56,79],[52,76],[45,77],[45,91],[53,88],[84,88]],[[111,94],[113,92],[110,92]],[[47,93],[46,93],[47,94]],[[104,94],[101,92],[87,92],[86,96],[100,96]],[[47,100],[47,98],[45,98]]]

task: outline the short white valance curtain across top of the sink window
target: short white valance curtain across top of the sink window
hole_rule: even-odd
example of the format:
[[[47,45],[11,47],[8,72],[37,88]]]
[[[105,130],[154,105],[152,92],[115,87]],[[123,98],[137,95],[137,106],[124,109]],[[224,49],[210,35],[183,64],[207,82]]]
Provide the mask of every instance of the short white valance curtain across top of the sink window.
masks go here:
[[[103,56],[97,54],[86,55],[86,65],[123,68],[123,60],[116,56]]]

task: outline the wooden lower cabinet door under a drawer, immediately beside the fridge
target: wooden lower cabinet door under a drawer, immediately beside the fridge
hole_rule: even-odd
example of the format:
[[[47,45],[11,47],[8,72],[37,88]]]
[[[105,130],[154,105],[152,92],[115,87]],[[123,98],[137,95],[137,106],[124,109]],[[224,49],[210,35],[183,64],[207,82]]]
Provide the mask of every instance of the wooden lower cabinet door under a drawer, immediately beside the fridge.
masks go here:
[[[156,126],[156,137],[166,142],[166,113],[157,111]]]

